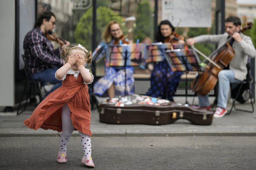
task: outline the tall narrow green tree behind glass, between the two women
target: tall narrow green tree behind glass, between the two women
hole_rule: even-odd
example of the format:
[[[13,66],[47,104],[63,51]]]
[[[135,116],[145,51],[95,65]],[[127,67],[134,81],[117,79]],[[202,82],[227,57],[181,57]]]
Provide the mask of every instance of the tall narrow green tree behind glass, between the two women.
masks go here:
[[[136,9],[136,28],[134,29],[134,42],[137,39],[143,41],[144,38],[150,37],[153,40],[153,18],[152,9],[148,1],[139,3]]]

